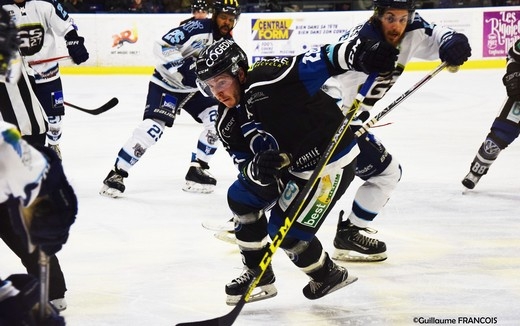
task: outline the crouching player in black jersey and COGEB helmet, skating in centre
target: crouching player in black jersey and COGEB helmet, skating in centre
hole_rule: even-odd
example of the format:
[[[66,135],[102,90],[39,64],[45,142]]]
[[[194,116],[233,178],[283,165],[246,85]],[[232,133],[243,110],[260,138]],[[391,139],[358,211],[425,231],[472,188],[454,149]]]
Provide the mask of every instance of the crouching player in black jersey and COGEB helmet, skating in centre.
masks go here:
[[[249,70],[246,54],[231,40],[218,41],[200,54],[199,87],[220,102],[217,132],[239,169],[228,190],[228,204],[244,271],[226,285],[228,304],[236,304],[247,289],[268,248],[268,234],[273,237],[283,225],[343,121],[335,100],[320,89],[322,84],[351,69],[391,71],[397,53],[386,42],[359,39],[347,46],[326,45],[295,57],[262,60]],[[281,243],[310,278],[303,289],[308,299],[357,279],[330,259],[315,234],[352,181],[358,152],[348,130]],[[276,295],[274,282],[269,266],[258,283],[260,292],[249,301]]]

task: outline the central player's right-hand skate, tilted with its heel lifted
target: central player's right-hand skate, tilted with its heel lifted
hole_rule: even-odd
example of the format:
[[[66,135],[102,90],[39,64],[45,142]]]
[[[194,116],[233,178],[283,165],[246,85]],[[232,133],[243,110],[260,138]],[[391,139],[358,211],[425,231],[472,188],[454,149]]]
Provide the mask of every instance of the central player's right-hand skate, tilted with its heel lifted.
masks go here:
[[[328,274],[322,281],[311,279],[303,288],[303,295],[309,300],[319,299],[357,281],[357,277],[350,276],[346,268],[336,265],[329,260]]]

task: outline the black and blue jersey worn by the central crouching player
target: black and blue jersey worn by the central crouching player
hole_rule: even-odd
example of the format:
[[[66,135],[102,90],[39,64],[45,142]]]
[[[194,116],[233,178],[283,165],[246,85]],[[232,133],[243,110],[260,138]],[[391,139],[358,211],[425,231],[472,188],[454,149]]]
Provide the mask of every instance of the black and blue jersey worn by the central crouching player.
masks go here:
[[[295,57],[258,61],[247,74],[240,104],[219,107],[217,131],[239,169],[267,149],[293,157],[291,173],[308,178],[343,121],[335,100],[320,88],[346,70],[335,66],[345,48],[327,45]],[[349,164],[359,153],[347,130],[324,173]]]

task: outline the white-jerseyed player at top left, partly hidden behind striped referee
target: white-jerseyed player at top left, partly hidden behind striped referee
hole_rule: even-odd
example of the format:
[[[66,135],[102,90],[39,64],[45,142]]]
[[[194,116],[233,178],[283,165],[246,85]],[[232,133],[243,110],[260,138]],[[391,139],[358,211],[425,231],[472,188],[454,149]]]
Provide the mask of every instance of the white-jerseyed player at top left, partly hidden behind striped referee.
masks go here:
[[[20,52],[27,62],[56,57],[59,41],[65,42],[74,63],[87,61],[84,38],[78,36],[72,18],[58,1],[9,0],[8,3],[3,8],[14,17],[21,40]],[[61,157],[59,142],[65,109],[59,65],[48,62],[31,68],[28,72],[34,77],[34,91],[49,120],[47,144]]]

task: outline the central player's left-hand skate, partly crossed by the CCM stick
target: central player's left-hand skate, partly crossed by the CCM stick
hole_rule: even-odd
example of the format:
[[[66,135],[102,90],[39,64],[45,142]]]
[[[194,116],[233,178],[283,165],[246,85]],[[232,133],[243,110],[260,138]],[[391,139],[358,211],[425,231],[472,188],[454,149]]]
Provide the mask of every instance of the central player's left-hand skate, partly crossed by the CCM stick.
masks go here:
[[[238,303],[242,295],[247,291],[251,282],[253,282],[254,274],[255,273],[252,269],[244,266],[242,275],[226,284],[226,304],[235,306]],[[274,276],[273,268],[269,265],[247,302],[265,300],[276,296],[278,290],[276,290],[274,285],[275,280],[276,278]]]

